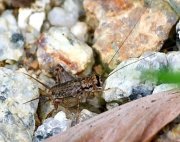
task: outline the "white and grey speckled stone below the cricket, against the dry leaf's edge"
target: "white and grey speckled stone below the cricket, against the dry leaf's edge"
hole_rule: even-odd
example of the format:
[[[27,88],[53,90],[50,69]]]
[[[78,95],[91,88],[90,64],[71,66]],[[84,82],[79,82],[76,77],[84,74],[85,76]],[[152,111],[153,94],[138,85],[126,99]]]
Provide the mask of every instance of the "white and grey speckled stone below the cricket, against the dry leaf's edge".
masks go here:
[[[59,134],[70,128],[71,120],[66,118],[66,114],[61,111],[54,118],[46,119],[35,132],[33,142],[41,142],[44,139]]]

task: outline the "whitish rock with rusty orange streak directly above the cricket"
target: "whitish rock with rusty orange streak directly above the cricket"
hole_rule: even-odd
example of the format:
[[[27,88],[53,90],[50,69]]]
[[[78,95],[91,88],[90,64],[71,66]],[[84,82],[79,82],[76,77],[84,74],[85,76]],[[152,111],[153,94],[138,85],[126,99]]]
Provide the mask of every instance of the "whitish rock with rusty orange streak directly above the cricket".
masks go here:
[[[41,35],[37,58],[40,68],[46,71],[61,64],[73,74],[89,74],[94,63],[92,49],[65,27],[52,27]]]

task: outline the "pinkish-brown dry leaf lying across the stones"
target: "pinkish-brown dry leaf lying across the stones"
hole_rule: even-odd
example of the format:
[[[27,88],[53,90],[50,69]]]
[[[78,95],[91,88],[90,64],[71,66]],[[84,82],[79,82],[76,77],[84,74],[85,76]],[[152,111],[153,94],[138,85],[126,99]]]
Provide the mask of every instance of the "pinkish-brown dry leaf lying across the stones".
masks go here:
[[[149,142],[180,114],[180,90],[121,105],[46,142]]]

